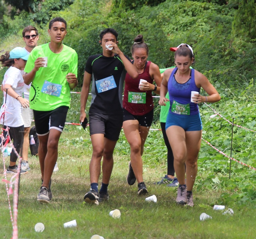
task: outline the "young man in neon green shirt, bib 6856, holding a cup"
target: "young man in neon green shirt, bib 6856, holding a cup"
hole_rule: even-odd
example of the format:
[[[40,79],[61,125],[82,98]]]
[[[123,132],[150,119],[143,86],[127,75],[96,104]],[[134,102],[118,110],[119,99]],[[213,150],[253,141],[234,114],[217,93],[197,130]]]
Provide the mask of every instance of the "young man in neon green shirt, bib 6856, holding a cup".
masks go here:
[[[24,77],[32,82],[30,108],[33,109],[39,139],[38,156],[42,185],[37,201],[52,199],[51,177],[58,158],[58,144],[70,107],[70,90],[77,85],[77,54],[62,44],[67,34],[67,22],[56,17],[49,23],[50,43],[35,47],[30,53]],[[45,59],[47,57],[47,67]]]

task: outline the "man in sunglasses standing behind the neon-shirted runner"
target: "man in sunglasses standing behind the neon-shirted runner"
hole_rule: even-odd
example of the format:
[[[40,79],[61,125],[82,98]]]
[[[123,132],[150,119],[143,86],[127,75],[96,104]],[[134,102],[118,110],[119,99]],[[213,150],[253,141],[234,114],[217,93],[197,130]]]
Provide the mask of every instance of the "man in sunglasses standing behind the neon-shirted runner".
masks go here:
[[[38,41],[38,31],[33,26],[27,26],[24,28],[22,32],[23,40],[26,44],[24,49],[27,51],[28,54],[37,46]],[[22,75],[25,75],[24,71],[22,71]],[[31,84],[26,85],[24,84],[23,94],[24,98],[29,100],[29,91],[30,91]],[[23,170],[30,170],[28,164],[28,149],[29,149],[29,132],[31,123],[33,120],[33,109],[24,108],[22,110],[22,117],[24,120],[24,140],[22,145],[22,162],[21,167]]]

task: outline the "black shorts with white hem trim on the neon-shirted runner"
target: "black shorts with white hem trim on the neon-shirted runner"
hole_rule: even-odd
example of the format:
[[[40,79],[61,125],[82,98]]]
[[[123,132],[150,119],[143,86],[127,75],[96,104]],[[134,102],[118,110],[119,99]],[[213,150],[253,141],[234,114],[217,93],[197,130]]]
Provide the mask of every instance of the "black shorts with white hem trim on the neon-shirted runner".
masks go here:
[[[50,111],[33,110],[33,112],[36,133],[38,135],[46,135],[50,129],[56,129],[60,132],[63,131],[68,112],[67,106],[60,106]]]

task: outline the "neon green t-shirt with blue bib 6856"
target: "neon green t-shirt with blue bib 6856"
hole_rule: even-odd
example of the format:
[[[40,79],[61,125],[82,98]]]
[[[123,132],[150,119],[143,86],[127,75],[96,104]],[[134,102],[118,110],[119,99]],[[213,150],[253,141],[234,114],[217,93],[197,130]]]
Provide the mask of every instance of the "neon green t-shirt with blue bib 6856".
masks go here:
[[[24,71],[29,73],[38,57],[48,57],[47,67],[40,67],[30,88],[30,108],[49,111],[59,106],[70,108],[70,87],[66,80],[68,73],[77,76],[77,53],[63,45],[60,53],[51,51],[49,43],[35,47],[29,54]]]

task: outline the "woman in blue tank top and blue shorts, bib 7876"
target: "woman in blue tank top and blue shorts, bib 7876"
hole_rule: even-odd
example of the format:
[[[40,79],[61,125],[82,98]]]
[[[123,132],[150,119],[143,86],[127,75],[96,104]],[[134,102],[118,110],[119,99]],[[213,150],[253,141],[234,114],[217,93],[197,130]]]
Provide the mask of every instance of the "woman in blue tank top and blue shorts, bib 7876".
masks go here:
[[[165,127],[173,150],[174,169],[180,183],[176,202],[193,206],[192,189],[197,174],[197,158],[202,136],[198,104],[217,102],[220,95],[203,74],[190,69],[194,55],[188,44],[182,43],[177,47],[174,60],[177,67],[164,72],[159,104],[166,105],[165,102],[170,101]],[[201,87],[209,96],[199,94]],[[165,97],[167,91],[170,99]],[[198,93],[191,98],[191,91]]]

